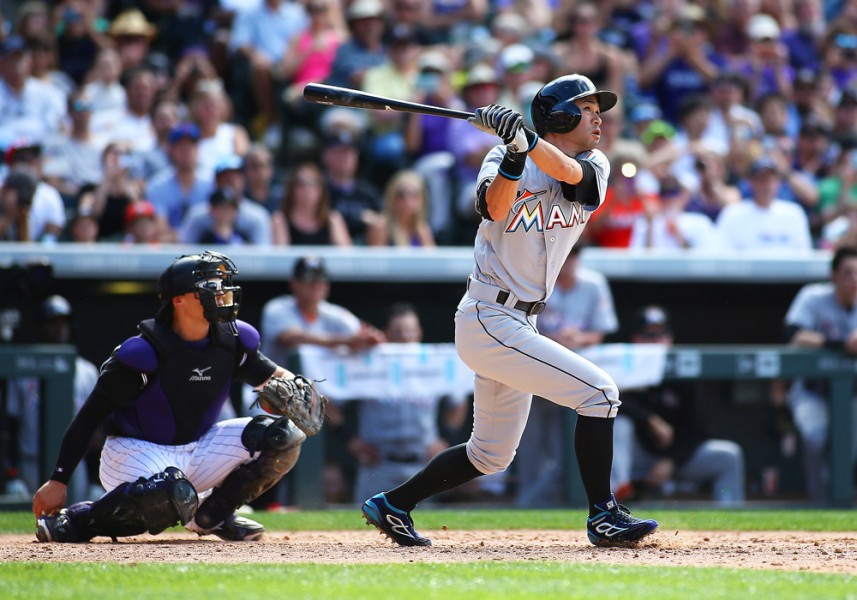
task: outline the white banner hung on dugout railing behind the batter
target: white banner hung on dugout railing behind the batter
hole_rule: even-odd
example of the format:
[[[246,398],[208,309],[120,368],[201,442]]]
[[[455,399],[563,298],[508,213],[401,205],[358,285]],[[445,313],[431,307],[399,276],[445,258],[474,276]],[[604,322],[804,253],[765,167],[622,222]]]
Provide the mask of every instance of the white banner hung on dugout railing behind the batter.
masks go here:
[[[607,371],[621,392],[661,383],[667,347],[602,344],[579,354]],[[473,372],[454,344],[380,344],[359,354],[304,346],[300,360],[301,373],[321,381],[321,392],[335,400],[396,398],[413,390],[432,396],[473,393]]]

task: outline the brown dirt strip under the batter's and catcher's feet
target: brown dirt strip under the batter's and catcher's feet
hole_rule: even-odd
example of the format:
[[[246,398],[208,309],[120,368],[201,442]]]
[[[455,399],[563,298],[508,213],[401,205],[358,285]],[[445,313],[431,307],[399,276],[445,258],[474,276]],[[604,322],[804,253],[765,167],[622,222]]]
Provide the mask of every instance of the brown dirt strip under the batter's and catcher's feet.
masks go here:
[[[565,561],[815,571],[857,575],[857,533],[675,531],[634,548],[595,548],[583,531],[424,531],[431,548],[402,548],[376,531],[267,532],[258,542],[223,542],[190,533],[40,544],[0,536],[0,561],[115,563],[462,563]]]

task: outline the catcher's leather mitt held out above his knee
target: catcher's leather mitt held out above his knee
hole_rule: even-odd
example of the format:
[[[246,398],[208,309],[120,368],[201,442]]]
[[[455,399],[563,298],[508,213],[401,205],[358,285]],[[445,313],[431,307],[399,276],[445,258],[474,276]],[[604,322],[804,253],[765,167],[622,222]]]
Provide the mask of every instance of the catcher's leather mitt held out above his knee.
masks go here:
[[[258,394],[250,408],[259,406],[272,415],[288,417],[308,436],[321,430],[327,398],[303,375],[294,379],[272,377]]]

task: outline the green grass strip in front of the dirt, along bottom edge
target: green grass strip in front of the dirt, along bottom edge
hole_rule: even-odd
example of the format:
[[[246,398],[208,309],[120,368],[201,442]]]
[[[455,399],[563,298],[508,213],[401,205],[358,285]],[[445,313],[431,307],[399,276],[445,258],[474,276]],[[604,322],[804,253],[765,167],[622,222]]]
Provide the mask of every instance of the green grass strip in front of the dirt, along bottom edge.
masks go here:
[[[0,565],[4,598],[854,598],[857,578],[742,569],[538,563]]]

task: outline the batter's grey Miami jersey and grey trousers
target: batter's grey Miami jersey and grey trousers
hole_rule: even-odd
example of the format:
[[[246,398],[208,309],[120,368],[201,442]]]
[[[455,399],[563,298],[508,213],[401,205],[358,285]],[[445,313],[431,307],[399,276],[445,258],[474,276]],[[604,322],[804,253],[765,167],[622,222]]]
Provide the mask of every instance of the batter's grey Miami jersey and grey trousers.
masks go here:
[[[488,153],[479,182],[497,175],[504,152],[500,146]],[[572,246],[604,201],[607,158],[599,150],[575,158],[591,165],[594,182],[564,186],[527,158],[512,209],[504,219],[479,225],[475,269],[455,314],[455,346],[476,373],[467,454],[485,474],[511,464],[534,394],[586,416],[612,418],[619,408],[607,373],[540,335],[536,314],[515,308],[550,296]]]

